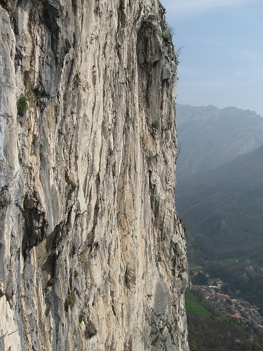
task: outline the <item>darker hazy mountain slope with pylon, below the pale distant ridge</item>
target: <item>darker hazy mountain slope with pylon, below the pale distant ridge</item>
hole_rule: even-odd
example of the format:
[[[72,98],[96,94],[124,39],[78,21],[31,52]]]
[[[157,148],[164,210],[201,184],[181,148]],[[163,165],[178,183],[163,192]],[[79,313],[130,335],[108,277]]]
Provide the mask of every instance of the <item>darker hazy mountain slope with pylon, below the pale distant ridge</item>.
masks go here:
[[[204,258],[263,250],[262,170],[263,146],[178,182],[177,211]]]

